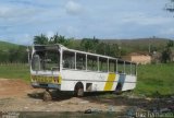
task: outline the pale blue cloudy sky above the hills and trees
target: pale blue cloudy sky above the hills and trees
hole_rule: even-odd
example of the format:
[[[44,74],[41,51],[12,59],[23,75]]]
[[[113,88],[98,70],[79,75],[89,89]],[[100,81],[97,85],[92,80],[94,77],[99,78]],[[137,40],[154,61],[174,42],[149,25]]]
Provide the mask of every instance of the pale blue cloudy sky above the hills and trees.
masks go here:
[[[54,33],[83,38],[174,38],[169,0],[0,0],[0,40],[32,44]]]

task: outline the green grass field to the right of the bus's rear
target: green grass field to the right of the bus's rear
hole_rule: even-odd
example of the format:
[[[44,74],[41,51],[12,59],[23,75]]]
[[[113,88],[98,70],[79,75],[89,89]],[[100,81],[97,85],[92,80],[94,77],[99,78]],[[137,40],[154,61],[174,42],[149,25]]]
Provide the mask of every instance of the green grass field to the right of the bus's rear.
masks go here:
[[[138,94],[161,95],[174,94],[174,63],[138,66]]]

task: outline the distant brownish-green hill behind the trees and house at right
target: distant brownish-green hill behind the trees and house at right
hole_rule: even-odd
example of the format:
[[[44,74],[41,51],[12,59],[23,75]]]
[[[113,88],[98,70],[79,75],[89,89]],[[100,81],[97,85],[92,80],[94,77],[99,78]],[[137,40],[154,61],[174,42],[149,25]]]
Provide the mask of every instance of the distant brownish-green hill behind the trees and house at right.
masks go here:
[[[138,38],[138,39],[102,39],[103,43],[117,44],[127,51],[161,51],[170,39],[166,38]]]

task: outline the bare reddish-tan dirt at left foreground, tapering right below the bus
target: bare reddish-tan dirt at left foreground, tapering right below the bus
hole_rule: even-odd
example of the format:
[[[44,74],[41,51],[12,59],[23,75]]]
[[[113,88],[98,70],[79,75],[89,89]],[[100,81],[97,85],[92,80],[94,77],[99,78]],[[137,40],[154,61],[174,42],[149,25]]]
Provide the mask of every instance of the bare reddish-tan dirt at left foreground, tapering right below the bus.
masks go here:
[[[45,90],[33,88],[22,80],[0,79],[1,111],[85,111],[98,109],[102,111],[121,111],[125,105],[115,106],[112,101],[99,102],[95,96],[82,98],[58,93],[51,102],[41,99]]]

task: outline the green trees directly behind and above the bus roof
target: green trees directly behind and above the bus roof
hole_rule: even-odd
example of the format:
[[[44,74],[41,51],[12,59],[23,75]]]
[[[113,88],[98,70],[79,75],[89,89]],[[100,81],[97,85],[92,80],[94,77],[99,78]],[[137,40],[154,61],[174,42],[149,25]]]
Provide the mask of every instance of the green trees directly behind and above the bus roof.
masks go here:
[[[50,38],[41,34],[40,36],[34,37],[34,44],[35,45],[62,44],[67,48],[73,48],[87,52],[95,52],[111,57],[121,57],[123,55],[126,55],[124,49],[121,49],[121,47],[117,44],[103,43],[96,37],[75,40],[74,38],[65,38],[65,36],[58,34],[53,35]]]

